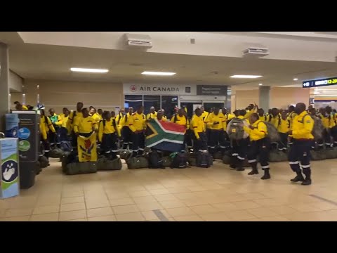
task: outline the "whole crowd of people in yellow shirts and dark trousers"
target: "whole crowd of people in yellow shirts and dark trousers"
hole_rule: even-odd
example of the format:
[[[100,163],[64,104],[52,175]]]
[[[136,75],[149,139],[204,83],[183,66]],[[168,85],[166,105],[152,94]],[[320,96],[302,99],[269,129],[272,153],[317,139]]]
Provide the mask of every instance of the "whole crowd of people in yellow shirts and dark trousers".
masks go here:
[[[143,106],[133,112],[133,108],[124,110],[122,108],[117,115],[114,112],[103,112],[91,107],[90,110],[83,109],[83,103],[77,103],[77,110],[70,112],[63,108],[63,113],[56,115],[53,109],[49,110],[49,117],[46,117],[44,110],[41,110],[40,131],[44,141],[58,145],[60,141],[67,141],[67,136],[72,136],[72,146],[77,147],[77,136],[90,136],[93,132],[98,133],[98,141],[102,143],[101,148],[105,155],[117,157],[117,143],[123,140],[123,148],[130,148],[133,156],[141,155],[145,148],[146,122],[150,119],[162,121],[168,120],[164,115],[164,110],[150,108],[150,113],[143,113]],[[330,146],[331,137],[337,145],[337,114],[333,114],[331,108],[322,108],[319,115],[313,108],[305,110],[303,103],[298,103],[296,107],[290,106],[288,110],[278,110],[273,108],[267,114],[257,105],[249,105],[246,110],[235,110],[233,114],[227,112],[225,108],[213,109],[206,112],[204,108],[197,108],[192,119],[187,117],[186,110],[180,108],[176,115],[173,115],[171,122],[184,125],[185,145],[192,148],[194,152],[209,150],[209,153],[216,152],[216,148],[225,150],[228,147],[228,129],[231,119],[242,119],[244,138],[242,141],[232,141],[232,162],[230,167],[239,171],[244,170],[242,163],[249,160],[252,170],[250,175],[258,174],[257,157],[265,174],[261,179],[270,179],[268,157],[272,143],[268,141],[267,124],[270,122],[275,126],[281,137],[278,143],[279,150],[286,150],[291,145],[289,152],[289,164],[296,172],[296,177],[292,182],[302,182],[303,185],[311,184],[310,170],[310,149],[314,136],[312,129],[314,119],[322,120],[324,126],[324,139],[318,142],[319,146]],[[56,134],[57,133],[57,134]],[[53,136],[58,136],[57,139]],[[55,141],[57,140],[57,141]],[[49,150],[45,147],[46,151]],[[302,174],[305,175],[305,178]]]

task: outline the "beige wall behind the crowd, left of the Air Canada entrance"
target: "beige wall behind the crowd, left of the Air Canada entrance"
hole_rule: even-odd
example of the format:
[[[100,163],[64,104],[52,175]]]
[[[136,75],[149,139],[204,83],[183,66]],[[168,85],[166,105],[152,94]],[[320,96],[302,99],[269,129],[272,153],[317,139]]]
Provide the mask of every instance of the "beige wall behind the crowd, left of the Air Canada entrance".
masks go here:
[[[77,102],[103,110],[114,110],[124,103],[122,84],[25,79],[25,93],[26,105],[36,105],[39,94],[40,103],[57,113],[64,107],[74,110]]]

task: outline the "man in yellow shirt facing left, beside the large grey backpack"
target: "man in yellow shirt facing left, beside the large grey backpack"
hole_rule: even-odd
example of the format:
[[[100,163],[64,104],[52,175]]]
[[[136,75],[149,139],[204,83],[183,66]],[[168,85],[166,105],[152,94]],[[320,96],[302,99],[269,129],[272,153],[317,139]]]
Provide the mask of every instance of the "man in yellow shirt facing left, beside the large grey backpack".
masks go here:
[[[267,137],[267,125],[260,121],[257,113],[252,113],[249,117],[249,126],[244,126],[244,131],[249,134],[251,146],[247,154],[248,162],[251,165],[251,172],[249,175],[258,174],[258,161],[264,171],[261,179],[270,179],[269,167],[269,152],[270,152],[270,138]]]

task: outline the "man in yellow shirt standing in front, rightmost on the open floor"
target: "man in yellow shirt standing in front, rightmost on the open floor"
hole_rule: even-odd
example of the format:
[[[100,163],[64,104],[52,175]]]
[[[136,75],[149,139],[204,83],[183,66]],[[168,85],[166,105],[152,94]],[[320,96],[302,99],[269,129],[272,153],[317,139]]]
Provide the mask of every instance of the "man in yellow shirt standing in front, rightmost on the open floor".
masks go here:
[[[311,181],[310,169],[310,149],[314,136],[312,129],[314,127],[314,119],[305,111],[305,104],[298,103],[295,108],[296,117],[293,119],[293,129],[289,131],[289,135],[293,137],[293,145],[289,151],[289,164],[291,169],[296,172],[296,177],[291,182],[302,182],[303,186],[309,186]],[[303,169],[303,174],[301,168]]]

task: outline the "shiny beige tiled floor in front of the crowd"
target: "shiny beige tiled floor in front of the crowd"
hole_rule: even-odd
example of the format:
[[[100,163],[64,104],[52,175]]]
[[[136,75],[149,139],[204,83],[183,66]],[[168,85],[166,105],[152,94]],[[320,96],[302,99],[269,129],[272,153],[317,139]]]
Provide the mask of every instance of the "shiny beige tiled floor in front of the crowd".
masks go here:
[[[336,160],[312,162],[312,186],[290,183],[286,162],[263,181],[220,162],[65,176],[57,161],[0,200],[0,221],[337,221]]]

